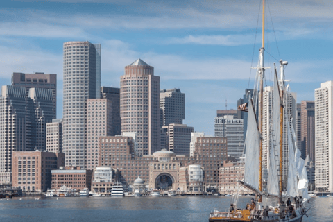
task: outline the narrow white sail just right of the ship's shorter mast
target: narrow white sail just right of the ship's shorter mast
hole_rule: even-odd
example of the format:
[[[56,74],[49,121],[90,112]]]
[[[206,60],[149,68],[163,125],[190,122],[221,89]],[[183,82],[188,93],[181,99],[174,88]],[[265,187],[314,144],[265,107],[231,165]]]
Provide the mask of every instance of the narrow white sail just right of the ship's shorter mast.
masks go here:
[[[289,117],[287,118],[289,119]],[[297,196],[298,195],[298,182],[297,182],[297,169],[295,162],[295,148],[293,139],[291,137],[291,128],[289,123],[287,125],[288,134],[288,147],[289,147],[289,164],[288,164],[288,182],[287,182],[287,195]]]

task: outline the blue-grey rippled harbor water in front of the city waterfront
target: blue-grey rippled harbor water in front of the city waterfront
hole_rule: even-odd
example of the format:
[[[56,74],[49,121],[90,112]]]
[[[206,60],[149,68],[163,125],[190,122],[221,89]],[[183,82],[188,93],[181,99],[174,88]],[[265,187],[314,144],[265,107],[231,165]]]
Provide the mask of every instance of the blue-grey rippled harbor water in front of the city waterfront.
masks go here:
[[[228,210],[231,197],[67,197],[1,199],[0,221],[208,221],[214,208]],[[240,197],[245,207],[250,197]],[[311,198],[305,222],[333,221],[333,197]]]

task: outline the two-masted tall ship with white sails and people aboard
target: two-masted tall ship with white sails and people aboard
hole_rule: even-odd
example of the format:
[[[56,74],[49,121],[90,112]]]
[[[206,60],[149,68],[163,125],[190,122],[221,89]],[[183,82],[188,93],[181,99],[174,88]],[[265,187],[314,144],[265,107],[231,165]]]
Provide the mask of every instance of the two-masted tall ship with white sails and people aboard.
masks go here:
[[[307,171],[296,146],[292,118],[287,112],[290,88],[289,80],[284,78],[288,62],[283,60],[280,60],[279,71],[274,65],[273,108],[268,123],[270,133],[265,137],[269,140],[265,141],[269,144],[268,179],[267,189],[263,191],[263,82],[265,69],[270,68],[264,66],[264,13],[265,1],[262,0],[262,47],[255,67],[255,87],[248,103],[239,106],[239,110],[248,112],[244,179],[239,182],[255,193],[255,199],[245,209],[238,207],[236,201],[228,212],[213,210],[210,222],[300,222],[309,210],[307,203],[311,197],[307,191]]]

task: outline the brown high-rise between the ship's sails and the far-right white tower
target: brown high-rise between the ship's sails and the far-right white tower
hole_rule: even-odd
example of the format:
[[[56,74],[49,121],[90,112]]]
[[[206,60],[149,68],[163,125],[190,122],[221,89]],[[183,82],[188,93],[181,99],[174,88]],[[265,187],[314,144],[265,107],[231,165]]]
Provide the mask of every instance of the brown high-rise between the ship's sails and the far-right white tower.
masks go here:
[[[302,158],[309,156],[311,161],[315,161],[315,114],[314,101],[301,101],[300,119],[301,119],[301,148]]]

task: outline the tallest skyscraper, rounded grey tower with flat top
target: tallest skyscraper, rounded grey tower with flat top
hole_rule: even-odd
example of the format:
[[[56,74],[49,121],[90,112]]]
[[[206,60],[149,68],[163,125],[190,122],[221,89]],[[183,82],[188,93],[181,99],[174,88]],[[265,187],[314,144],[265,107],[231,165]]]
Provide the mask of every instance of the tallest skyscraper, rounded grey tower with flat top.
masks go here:
[[[65,42],[63,152],[66,166],[87,167],[87,99],[101,96],[101,44]]]

